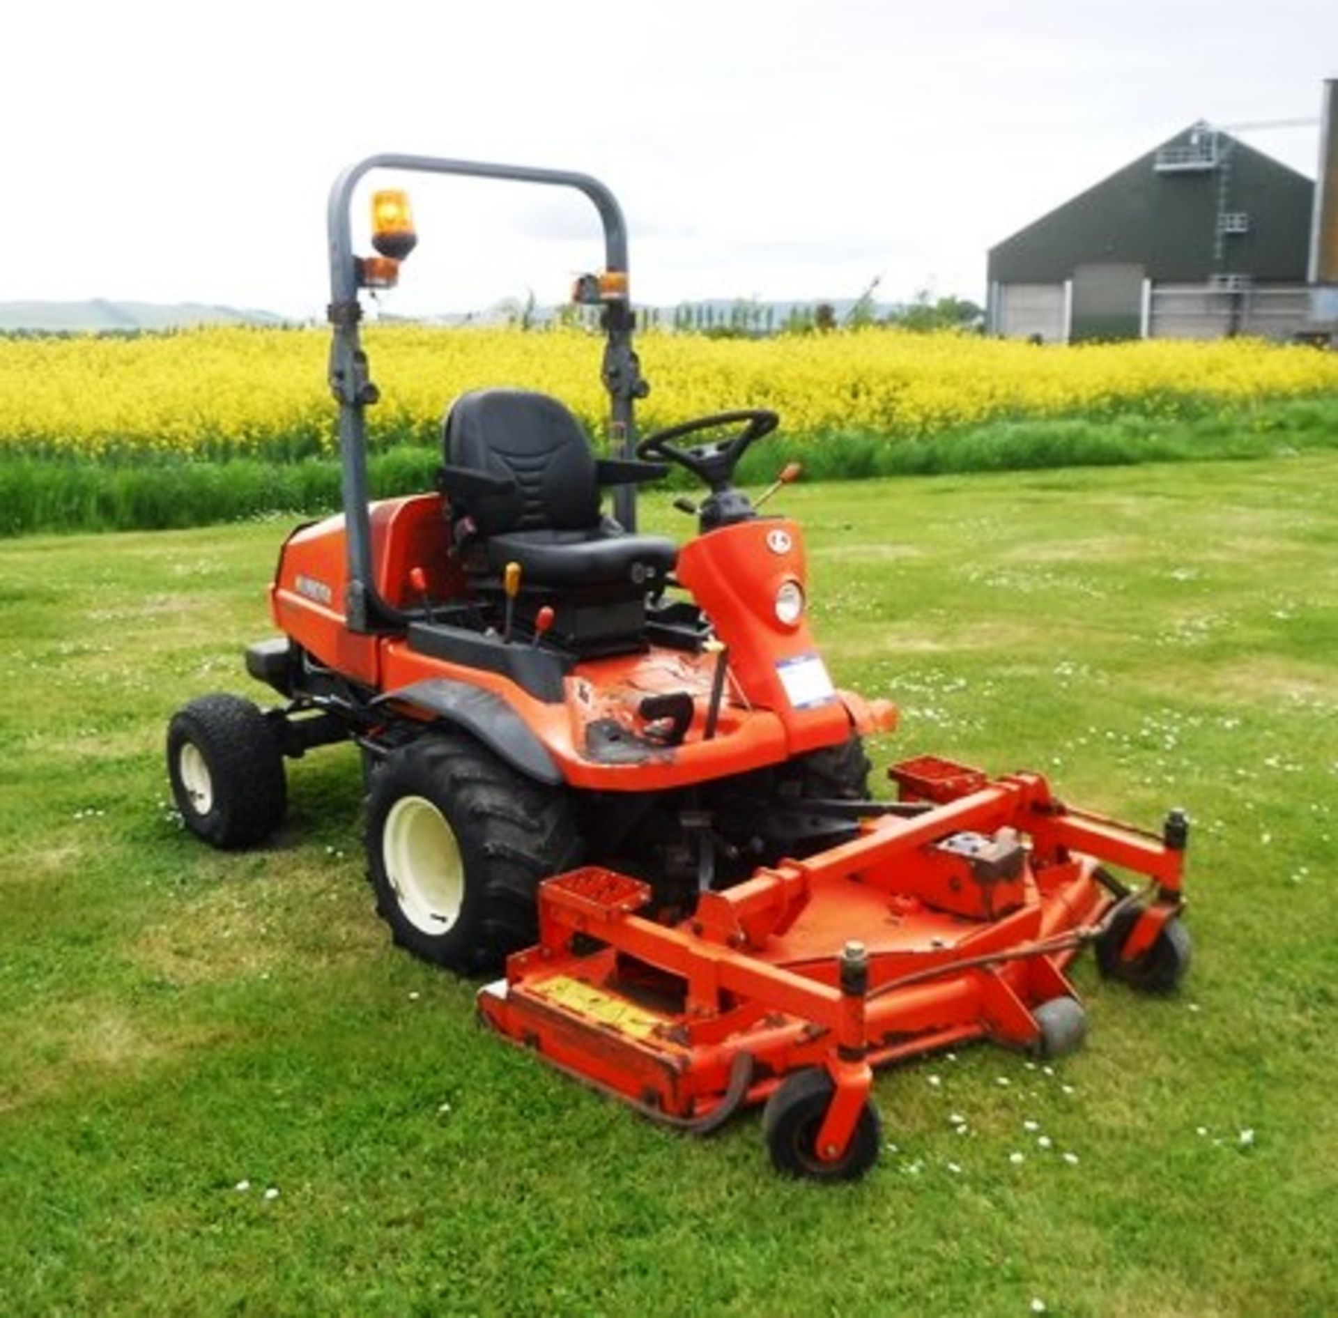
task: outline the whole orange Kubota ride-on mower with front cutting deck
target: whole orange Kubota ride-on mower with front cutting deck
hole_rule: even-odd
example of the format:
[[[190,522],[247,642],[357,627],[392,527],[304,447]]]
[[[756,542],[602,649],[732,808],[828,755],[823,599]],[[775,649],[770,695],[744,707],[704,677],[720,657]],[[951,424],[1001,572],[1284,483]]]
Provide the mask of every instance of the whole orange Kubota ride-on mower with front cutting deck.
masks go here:
[[[359,290],[393,284],[415,242],[404,194],[383,191],[376,254],[353,254],[351,202],[373,169],[594,202],[606,269],[577,296],[602,309],[613,456],[551,397],[478,389],[447,412],[439,490],[368,502],[377,392]],[[1085,1016],[1065,969],[1085,943],[1111,977],[1176,986],[1181,814],[1140,832],[1068,807],[1038,775],[931,756],[890,769],[898,800],[868,797],[862,737],[891,729],[892,708],[832,685],[800,529],[732,479],[776,416],[636,439],[646,384],[606,187],[373,157],[336,182],[329,236],[344,514],[288,538],[270,587],[284,636],[248,650],[285,704],[213,694],[171,720],[193,832],[261,842],[284,814],[284,760],[355,741],[397,943],[462,973],[504,966],[482,1018],[658,1121],[706,1132],[764,1101],[775,1164],[819,1180],[878,1155],[872,1066],[974,1038],[1076,1048]],[[669,464],[706,487],[680,500],[698,523],[682,546],[636,531],[634,488]]]

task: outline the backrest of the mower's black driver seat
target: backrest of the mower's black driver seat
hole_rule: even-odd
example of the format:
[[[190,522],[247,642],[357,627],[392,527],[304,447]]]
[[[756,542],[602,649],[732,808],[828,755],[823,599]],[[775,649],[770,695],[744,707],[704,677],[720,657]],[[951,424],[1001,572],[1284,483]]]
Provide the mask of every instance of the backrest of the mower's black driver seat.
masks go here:
[[[575,531],[599,522],[594,454],[581,423],[546,393],[475,389],[446,415],[446,462],[515,482],[511,494],[452,499],[483,535]]]

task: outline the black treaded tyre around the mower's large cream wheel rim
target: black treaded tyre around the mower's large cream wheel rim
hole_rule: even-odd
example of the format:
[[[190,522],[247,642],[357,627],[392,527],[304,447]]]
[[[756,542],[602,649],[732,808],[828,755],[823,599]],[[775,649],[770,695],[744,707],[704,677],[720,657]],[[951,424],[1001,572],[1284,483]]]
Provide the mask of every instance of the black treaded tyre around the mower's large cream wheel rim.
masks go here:
[[[482,901],[478,906],[471,902],[476,918],[462,915],[467,943],[434,939],[413,929],[389,884],[379,882],[379,828],[405,791],[431,795],[439,808],[448,810],[467,862],[472,852],[475,864],[482,866],[483,886],[476,892]],[[563,791],[523,777],[486,747],[458,733],[424,736],[387,759],[372,781],[367,846],[377,911],[395,942],[463,974],[492,969],[508,953],[535,942],[538,886],[578,864],[581,851]]]

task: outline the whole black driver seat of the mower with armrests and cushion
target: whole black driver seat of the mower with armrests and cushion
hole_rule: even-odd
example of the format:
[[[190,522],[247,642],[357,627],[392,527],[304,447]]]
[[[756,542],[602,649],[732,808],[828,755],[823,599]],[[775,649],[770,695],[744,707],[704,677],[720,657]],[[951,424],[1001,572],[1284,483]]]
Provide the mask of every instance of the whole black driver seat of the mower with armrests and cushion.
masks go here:
[[[514,562],[527,587],[611,599],[644,595],[673,569],[673,541],[629,535],[599,512],[601,486],[654,480],[668,468],[595,459],[557,399],[475,389],[455,400],[444,431],[442,486],[471,575],[496,577]]]

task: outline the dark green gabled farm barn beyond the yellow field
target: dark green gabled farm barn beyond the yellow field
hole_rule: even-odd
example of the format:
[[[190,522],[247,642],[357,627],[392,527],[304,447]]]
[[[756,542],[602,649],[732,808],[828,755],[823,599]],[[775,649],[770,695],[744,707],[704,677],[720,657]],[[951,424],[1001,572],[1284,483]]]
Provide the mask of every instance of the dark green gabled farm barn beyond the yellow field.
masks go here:
[[[1338,276],[1313,266],[1334,219],[1315,194],[1288,166],[1193,124],[991,248],[986,328],[1045,343],[1331,328],[1322,285]]]

